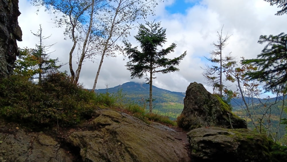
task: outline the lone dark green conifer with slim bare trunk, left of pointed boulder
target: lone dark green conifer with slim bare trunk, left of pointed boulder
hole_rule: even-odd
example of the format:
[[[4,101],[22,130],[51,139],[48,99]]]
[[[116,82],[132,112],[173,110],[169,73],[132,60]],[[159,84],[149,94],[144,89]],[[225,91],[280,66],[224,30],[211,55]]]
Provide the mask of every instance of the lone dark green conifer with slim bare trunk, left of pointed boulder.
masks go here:
[[[131,78],[145,77],[147,84],[150,85],[149,112],[152,113],[152,79],[155,73],[170,73],[179,71],[176,66],[180,60],[186,56],[186,51],[179,57],[165,58],[167,54],[174,52],[176,47],[172,43],[168,48],[158,51],[157,47],[162,47],[166,42],[166,29],[160,27],[160,23],[146,22],[146,26],[140,24],[139,31],[135,39],[140,43],[142,52],[137,47],[131,47],[131,43],[125,42],[125,52],[130,59],[127,62],[127,69],[131,71]]]

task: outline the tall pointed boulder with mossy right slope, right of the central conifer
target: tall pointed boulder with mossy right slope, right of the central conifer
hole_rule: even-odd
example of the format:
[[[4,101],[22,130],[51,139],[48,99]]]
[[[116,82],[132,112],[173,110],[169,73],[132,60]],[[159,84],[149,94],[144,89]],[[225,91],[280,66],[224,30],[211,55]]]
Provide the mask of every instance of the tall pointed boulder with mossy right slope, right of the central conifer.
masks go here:
[[[247,128],[244,119],[231,112],[229,120],[229,106],[220,98],[208,92],[202,84],[190,83],[184,98],[184,108],[178,118],[178,125],[185,129],[199,127]]]

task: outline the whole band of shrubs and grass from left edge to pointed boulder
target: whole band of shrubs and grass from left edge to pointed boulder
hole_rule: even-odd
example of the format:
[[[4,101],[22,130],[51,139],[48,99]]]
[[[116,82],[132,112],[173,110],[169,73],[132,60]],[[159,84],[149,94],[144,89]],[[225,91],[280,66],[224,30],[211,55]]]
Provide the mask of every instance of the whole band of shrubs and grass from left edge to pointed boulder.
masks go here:
[[[31,129],[65,127],[90,119],[98,107],[120,107],[146,123],[151,121],[175,125],[168,117],[148,114],[147,104],[127,101],[116,94],[96,94],[71,82],[66,73],[52,73],[35,83],[22,75],[0,79],[0,117]]]

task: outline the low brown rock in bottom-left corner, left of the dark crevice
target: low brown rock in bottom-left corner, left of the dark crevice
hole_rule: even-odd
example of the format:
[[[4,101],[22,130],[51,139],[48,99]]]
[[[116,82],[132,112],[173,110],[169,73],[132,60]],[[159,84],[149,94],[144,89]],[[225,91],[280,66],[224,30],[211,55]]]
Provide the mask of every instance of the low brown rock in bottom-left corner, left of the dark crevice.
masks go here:
[[[18,129],[1,130],[0,161],[72,161],[53,138]]]

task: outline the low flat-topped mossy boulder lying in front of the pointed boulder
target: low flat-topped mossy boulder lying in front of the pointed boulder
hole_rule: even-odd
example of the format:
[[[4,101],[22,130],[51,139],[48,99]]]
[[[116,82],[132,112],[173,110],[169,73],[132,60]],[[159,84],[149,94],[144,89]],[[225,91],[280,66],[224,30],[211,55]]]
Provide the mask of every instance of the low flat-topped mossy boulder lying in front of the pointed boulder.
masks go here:
[[[191,130],[187,138],[194,162],[280,161],[271,157],[275,143],[264,134],[248,129],[197,128]]]

